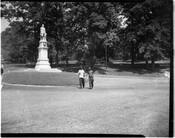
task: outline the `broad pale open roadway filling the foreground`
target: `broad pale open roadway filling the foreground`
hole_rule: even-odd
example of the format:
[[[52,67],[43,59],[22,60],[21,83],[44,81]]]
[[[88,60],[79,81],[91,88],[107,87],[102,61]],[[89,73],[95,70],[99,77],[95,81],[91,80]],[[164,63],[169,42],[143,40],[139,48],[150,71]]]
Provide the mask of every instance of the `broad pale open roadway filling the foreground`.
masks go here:
[[[2,133],[168,136],[167,78],[95,77],[95,88],[4,85]]]

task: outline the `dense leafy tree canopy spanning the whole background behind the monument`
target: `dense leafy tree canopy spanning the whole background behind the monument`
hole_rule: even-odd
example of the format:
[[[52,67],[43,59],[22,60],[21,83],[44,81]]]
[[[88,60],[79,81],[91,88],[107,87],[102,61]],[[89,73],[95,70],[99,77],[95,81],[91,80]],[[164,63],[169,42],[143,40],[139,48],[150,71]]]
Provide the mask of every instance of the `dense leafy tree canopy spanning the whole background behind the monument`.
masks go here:
[[[132,63],[169,57],[172,2],[168,0],[3,1],[1,7],[1,16],[11,22],[11,28],[2,32],[2,48],[10,51],[11,59],[36,61],[41,24],[47,30],[49,57],[57,63],[65,59],[68,64],[72,55],[87,61],[105,58],[105,50],[108,58],[117,51]]]

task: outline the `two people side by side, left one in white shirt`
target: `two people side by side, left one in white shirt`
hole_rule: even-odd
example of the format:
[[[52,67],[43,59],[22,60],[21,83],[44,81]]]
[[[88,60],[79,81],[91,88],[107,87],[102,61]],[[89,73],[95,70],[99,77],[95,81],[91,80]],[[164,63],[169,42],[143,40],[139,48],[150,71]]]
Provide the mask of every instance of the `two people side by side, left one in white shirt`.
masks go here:
[[[82,67],[80,67],[78,71],[78,76],[79,76],[79,83],[80,83],[80,88],[84,88],[85,86],[85,71],[83,70]],[[89,67],[88,70],[88,76],[89,76],[89,88],[92,89],[94,87],[94,73],[91,67]]]

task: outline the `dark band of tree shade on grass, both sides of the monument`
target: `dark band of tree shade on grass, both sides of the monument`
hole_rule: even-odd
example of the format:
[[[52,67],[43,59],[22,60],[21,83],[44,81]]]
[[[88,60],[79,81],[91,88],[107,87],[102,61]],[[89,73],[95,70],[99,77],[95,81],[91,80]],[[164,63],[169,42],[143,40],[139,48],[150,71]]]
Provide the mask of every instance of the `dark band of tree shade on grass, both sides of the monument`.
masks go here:
[[[69,64],[66,66],[65,64],[59,64],[59,69],[61,69],[63,72],[73,72],[77,73],[79,70],[79,63]],[[129,63],[109,63],[107,70],[109,72],[113,73],[122,73],[122,72],[128,72],[128,73],[134,73],[134,74],[153,74],[153,73],[162,73],[162,70],[169,70],[169,63],[156,63],[155,64],[155,70],[151,70],[151,64],[148,65],[148,69],[146,68],[145,63],[135,63],[133,66]],[[26,64],[11,64],[7,65],[6,68],[9,68],[11,70],[16,70],[20,68],[35,68],[35,65],[26,65]],[[51,65],[51,68],[57,68],[56,65]],[[88,67],[85,68],[87,71]],[[98,74],[106,74],[106,67],[105,64],[96,64],[93,69]]]

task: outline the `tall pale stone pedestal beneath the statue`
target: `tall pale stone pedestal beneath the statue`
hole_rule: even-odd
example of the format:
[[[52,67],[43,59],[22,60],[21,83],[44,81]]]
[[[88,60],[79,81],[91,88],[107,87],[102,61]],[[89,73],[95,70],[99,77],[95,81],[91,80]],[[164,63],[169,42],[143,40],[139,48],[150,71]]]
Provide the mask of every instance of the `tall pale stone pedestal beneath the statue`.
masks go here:
[[[40,44],[38,47],[38,59],[35,69],[36,70],[51,69],[48,59],[47,41],[45,39],[40,40]]]

